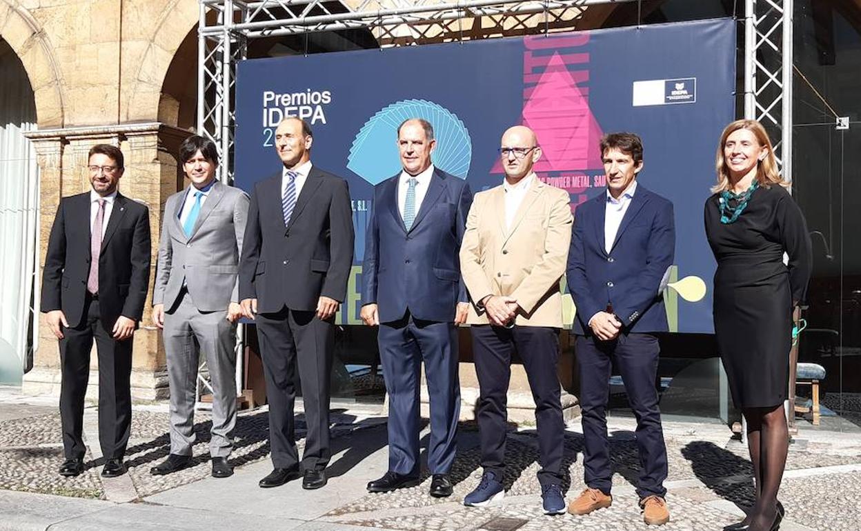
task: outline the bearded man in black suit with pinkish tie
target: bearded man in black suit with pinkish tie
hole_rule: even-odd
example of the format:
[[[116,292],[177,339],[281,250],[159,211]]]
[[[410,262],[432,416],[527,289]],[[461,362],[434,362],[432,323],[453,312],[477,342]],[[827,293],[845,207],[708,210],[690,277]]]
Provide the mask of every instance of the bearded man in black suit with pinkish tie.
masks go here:
[[[59,473],[84,472],[84,395],[95,338],[102,476],[113,478],[126,472],[132,337],[150,279],[150,220],[146,206],[117,191],[124,171],[119,148],[94,145],[88,170],[92,190],[59,202],[42,273],[41,311],[59,339],[65,454]]]

